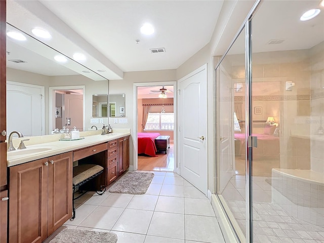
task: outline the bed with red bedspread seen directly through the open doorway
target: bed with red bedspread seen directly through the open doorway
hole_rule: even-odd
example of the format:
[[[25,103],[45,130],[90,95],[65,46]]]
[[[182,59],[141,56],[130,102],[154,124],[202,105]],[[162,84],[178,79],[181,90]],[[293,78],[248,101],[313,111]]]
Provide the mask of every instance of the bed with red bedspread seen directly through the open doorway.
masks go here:
[[[159,133],[137,133],[137,153],[155,157],[155,152],[157,152],[155,138],[158,136],[160,136]]]

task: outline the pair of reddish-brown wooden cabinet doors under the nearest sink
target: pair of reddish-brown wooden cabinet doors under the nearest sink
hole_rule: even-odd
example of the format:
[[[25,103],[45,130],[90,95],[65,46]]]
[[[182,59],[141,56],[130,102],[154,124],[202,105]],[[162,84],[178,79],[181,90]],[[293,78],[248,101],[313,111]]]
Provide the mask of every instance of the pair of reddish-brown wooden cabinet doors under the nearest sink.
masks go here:
[[[72,217],[72,152],[9,168],[9,242],[43,242]]]

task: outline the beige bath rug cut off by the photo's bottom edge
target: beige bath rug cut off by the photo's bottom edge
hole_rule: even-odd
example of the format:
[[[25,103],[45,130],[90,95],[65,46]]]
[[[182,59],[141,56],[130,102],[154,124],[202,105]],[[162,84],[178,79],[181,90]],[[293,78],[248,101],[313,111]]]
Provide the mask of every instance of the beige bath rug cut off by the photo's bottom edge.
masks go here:
[[[117,235],[110,232],[65,228],[49,243],[116,243]]]

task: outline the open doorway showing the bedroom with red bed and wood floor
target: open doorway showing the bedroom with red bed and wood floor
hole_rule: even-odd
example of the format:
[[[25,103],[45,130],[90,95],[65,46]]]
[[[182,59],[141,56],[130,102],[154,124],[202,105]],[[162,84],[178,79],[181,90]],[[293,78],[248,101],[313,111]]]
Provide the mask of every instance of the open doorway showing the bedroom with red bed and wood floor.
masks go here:
[[[137,170],[174,172],[177,168],[175,84],[134,85],[137,111],[134,157]]]

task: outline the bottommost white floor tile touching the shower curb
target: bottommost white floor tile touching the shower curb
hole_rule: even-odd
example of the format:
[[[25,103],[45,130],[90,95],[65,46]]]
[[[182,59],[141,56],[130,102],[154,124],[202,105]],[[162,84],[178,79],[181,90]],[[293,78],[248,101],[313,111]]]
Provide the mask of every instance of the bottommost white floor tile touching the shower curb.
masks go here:
[[[225,242],[216,217],[185,215],[187,240]]]

